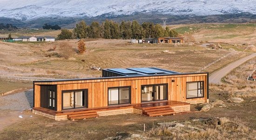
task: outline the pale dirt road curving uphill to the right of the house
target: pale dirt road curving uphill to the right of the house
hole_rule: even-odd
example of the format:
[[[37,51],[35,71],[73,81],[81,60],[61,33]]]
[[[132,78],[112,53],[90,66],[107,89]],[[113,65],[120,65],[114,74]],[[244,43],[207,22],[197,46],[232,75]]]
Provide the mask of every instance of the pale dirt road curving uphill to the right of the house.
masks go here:
[[[253,53],[247,57],[243,57],[242,59],[239,59],[233,63],[228,64],[224,68],[215,71],[209,76],[209,83],[216,83],[221,84],[221,79],[225,75],[227,75],[231,70],[235,69],[239,65],[243,64],[244,62],[248,61],[249,59],[256,57],[256,53]]]

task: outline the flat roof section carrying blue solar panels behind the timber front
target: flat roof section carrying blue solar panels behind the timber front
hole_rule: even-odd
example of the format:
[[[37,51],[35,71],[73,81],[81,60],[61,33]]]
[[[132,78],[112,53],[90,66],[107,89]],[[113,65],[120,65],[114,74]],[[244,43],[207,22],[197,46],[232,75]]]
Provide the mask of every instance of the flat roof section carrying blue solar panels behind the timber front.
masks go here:
[[[172,70],[165,70],[155,67],[147,68],[113,68],[113,69],[103,69],[112,73],[120,74],[123,76],[151,76],[151,75],[166,75],[166,74],[177,74],[179,72]]]

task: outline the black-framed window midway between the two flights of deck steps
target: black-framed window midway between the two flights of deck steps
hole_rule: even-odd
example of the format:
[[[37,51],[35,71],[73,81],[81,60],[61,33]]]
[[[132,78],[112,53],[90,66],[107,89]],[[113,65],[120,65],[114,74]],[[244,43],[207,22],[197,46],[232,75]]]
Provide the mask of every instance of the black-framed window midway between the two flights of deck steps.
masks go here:
[[[128,104],[131,96],[131,87],[108,88],[108,105]]]

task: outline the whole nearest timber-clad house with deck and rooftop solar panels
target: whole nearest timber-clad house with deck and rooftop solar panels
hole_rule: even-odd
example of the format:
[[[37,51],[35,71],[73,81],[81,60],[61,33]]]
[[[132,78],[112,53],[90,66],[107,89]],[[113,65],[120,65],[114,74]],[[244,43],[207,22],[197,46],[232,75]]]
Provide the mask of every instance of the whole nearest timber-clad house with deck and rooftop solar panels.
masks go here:
[[[171,115],[190,111],[190,103],[209,102],[208,84],[208,73],[104,69],[99,78],[34,81],[33,112],[55,120]]]

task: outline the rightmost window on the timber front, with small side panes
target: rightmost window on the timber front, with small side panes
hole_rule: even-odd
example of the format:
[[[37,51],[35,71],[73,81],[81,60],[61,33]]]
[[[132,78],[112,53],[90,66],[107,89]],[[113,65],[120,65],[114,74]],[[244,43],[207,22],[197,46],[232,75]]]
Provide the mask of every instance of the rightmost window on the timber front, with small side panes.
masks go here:
[[[203,81],[187,83],[187,99],[203,97]]]

